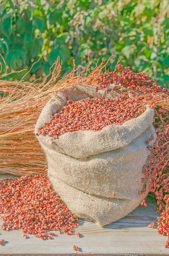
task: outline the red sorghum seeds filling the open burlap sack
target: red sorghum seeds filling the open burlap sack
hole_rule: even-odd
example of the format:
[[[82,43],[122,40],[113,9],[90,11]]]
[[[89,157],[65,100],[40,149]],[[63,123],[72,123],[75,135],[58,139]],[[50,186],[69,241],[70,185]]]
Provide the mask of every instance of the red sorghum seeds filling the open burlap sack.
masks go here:
[[[67,101],[44,127],[39,128],[39,134],[48,135],[53,140],[65,132],[98,131],[110,124],[123,124],[144,111],[145,106],[140,107],[136,99],[123,94],[116,98],[95,97]]]

